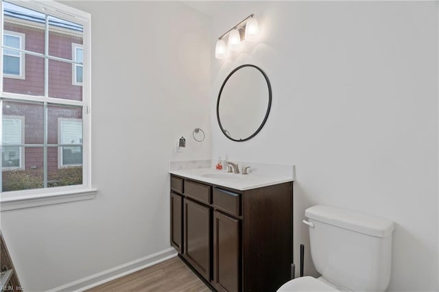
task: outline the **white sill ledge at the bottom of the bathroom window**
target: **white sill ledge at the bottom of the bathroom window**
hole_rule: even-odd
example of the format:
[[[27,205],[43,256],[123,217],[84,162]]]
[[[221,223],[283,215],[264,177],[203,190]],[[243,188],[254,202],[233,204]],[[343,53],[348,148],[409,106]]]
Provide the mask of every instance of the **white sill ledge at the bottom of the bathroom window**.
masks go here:
[[[95,188],[82,188],[56,193],[42,193],[39,195],[11,195],[2,193],[0,199],[0,211],[8,211],[22,208],[31,208],[52,204],[82,201],[93,199],[96,195]]]

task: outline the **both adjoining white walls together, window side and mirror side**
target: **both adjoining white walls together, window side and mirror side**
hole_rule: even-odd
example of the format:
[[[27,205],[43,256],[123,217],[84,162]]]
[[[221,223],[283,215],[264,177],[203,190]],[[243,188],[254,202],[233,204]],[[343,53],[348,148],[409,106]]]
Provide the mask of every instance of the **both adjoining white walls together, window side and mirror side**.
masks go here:
[[[66,3],[92,14],[99,191],[1,212],[27,291],[165,250],[169,160],[224,154],[296,165],[296,264],[298,245],[309,247],[303,211],[330,204],[394,220],[390,291],[439,289],[437,2],[228,2],[210,33],[181,3]],[[250,13],[261,42],[216,60],[216,38]],[[217,126],[216,94],[244,63],[268,74],[273,103],[260,134],[235,143]],[[193,142],[195,127],[204,143]],[[181,135],[188,147],[175,154]],[[309,250],[305,272],[315,274]]]

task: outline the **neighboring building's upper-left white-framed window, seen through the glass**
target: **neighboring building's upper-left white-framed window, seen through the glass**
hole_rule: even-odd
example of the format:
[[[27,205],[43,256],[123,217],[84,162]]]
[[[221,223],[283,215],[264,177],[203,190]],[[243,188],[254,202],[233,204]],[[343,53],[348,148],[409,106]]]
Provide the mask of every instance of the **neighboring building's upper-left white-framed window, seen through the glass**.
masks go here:
[[[23,49],[25,34],[20,32],[3,32],[3,46],[14,49]],[[25,79],[25,59],[23,53],[14,49],[3,49],[3,76]]]

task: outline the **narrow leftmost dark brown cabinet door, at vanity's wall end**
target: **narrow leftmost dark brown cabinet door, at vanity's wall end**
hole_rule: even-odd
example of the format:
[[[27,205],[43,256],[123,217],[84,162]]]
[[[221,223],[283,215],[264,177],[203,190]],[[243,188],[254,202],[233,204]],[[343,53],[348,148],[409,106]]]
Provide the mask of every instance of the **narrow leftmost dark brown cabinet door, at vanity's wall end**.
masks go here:
[[[176,193],[171,193],[171,245],[176,248],[177,252],[182,254],[182,210],[183,198]]]

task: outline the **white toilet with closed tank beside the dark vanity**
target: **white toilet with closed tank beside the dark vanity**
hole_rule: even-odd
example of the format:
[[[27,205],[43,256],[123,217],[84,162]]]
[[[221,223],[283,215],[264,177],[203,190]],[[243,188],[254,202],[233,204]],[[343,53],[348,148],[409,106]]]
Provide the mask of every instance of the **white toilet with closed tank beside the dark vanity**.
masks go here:
[[[394,223],[359,212],[313,206],[311,258],[322,275],[290,280],[278,291],[385,291],[390,282]]]

